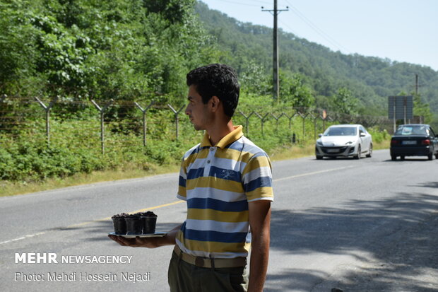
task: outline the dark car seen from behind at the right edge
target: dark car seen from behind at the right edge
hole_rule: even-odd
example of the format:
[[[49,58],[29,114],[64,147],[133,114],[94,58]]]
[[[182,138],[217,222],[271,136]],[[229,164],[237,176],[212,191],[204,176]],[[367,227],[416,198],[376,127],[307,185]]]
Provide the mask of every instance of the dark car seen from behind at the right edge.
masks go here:
[[[402,124],[391,138],[391,160],[405,156],[438,158],[438,137],[428,124]]]

